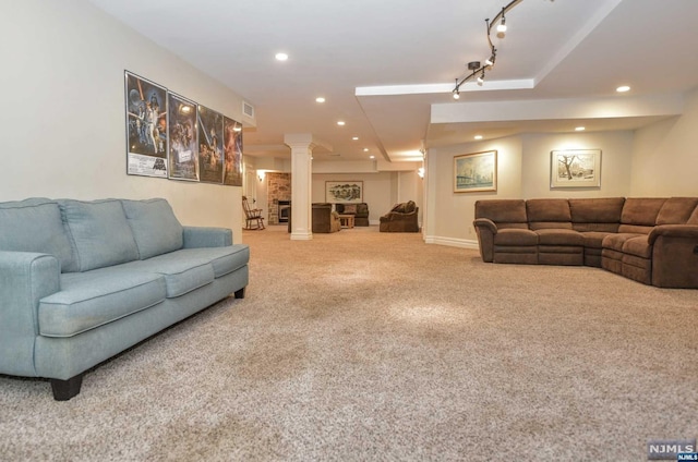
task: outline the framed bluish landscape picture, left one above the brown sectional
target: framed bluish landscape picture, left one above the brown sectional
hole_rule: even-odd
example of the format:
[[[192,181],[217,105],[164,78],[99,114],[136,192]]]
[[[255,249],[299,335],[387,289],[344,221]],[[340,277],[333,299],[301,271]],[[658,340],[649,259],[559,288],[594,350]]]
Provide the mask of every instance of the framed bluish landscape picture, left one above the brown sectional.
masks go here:
[[[497,191],[497,151],[454,157],[454,193]]]

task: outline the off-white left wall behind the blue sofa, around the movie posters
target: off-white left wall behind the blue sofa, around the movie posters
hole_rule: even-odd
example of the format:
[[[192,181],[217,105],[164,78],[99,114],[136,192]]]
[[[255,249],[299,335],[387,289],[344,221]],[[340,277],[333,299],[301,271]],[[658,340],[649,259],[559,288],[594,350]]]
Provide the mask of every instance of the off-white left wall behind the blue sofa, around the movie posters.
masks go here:
[[[165,197],[182,223],[240,241],[240,187],[127,175],[123,72],[254,123],[240,96],[84,0],[7,2],[0,41],[0,200]]]

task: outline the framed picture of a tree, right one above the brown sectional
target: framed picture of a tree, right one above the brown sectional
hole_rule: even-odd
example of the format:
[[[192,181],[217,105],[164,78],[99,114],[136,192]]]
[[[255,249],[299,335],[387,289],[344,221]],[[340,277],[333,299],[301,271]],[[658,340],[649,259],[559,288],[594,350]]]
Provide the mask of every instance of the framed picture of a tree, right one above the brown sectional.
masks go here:
[[[551,151],[550,187],[601,187],[601,149]]]

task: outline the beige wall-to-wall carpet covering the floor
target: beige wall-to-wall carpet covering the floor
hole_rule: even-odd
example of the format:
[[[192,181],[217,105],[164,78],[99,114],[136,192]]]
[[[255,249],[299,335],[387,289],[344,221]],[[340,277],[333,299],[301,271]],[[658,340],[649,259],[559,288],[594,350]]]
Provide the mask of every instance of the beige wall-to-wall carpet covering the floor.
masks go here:
[[[698,291],[375,227],[243,240],[244,300],[73,400],[0,376],[0,460],[642,461],[698,433]]]

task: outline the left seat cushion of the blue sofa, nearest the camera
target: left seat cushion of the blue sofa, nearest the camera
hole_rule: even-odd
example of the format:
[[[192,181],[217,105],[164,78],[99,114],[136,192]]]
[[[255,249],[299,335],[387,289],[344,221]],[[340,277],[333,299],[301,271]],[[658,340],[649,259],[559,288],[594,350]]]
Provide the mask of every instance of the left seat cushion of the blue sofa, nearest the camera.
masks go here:
[[[39,302],[39,333],[73,337],[163,302],[165,279],[121,267],[61,275],[61,291]]]

